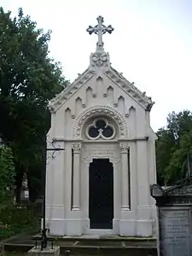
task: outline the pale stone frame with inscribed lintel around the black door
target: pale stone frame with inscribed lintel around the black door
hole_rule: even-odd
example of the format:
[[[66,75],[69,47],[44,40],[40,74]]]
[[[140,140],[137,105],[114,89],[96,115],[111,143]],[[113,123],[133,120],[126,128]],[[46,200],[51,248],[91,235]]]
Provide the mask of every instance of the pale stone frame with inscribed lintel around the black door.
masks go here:
[[[81,203],[82,218],[84,219],[84,233],[95,234],[90,230],[89,220],[89,167],[93,159],[109,159],[113,163],[113,223],[120,218],[121,206],[121,175],[120,175],[120,148],[119,143],[83,143],[81,151]],[[101,232],[101,230],[100,230]],[[103,230],[105,234],[115,234],[113,230]]]

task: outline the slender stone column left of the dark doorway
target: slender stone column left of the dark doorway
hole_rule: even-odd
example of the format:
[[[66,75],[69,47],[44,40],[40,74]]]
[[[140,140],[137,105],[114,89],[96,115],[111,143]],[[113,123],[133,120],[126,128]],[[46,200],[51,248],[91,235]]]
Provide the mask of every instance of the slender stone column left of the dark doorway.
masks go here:
[[[73,211],[80,210],[80,149],[81,143],[73,143]]]

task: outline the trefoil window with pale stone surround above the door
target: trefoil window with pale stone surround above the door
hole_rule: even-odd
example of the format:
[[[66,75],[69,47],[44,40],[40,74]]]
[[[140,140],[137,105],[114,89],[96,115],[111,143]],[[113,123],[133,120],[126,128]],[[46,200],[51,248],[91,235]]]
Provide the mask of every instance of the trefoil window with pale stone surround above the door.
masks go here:
[[[90,139],[112,139],[115,135],[114,126],[108,123],[107,119],[95,119],[93,124],[89,125],[86,135]]]

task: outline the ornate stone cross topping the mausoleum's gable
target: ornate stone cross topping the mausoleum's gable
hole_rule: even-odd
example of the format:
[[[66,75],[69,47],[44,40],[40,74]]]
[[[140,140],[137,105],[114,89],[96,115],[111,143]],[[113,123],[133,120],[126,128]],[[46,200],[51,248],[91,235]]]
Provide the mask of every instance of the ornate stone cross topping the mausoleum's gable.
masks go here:
[[[102,23],[104,22],[103,17],[102,16],[98,16],[96,18],[96,20],[98,21],[98,24],[96,26],[89,26],[87,28],[87,32],[89,32],[89,34],[91,35],[93,32],[98,35],[98,41],[96,43],[96,51],[103,51],[103,42],[102,42],[102,35],[105,34],[106,32],[108,32],[109,34],[111,34],[113,32],[113,27],[111,25],[109,26],[105,26]]]

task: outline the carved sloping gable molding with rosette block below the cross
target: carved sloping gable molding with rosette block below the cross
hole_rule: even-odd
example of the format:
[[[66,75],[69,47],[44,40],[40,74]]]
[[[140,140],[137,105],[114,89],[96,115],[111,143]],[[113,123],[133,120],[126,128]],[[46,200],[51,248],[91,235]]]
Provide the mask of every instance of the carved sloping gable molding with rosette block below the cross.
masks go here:
[[[102,67],[106,68],[103,69]],[[87,83],[96,73],[96,68],[102,68],[102,73],[107,75],[113,83],[118,84],[125,93],[134,98],[134,100],[144,109],[150,111],[153,107],[154,102],[152,102],[151,97],[146,96],[145,92],[138,90],[134,83],[129,82],[122,76],[122,74],[118,73],[110,66],[108,53],[95,52],[90,55],[90,67],[87,68],[84,73],[79,75],[78,78],[73,81],[73,84],[68,84],[65,90],[61,91],[60,94],[55,96],[55,98],[49,102],[48,107],[50,112],[55,113],[55,111],[60,108],[70,96],[73,96],[73,94],[79,90],[83,84]],[[114,106],[117,107],[116,103]]]

